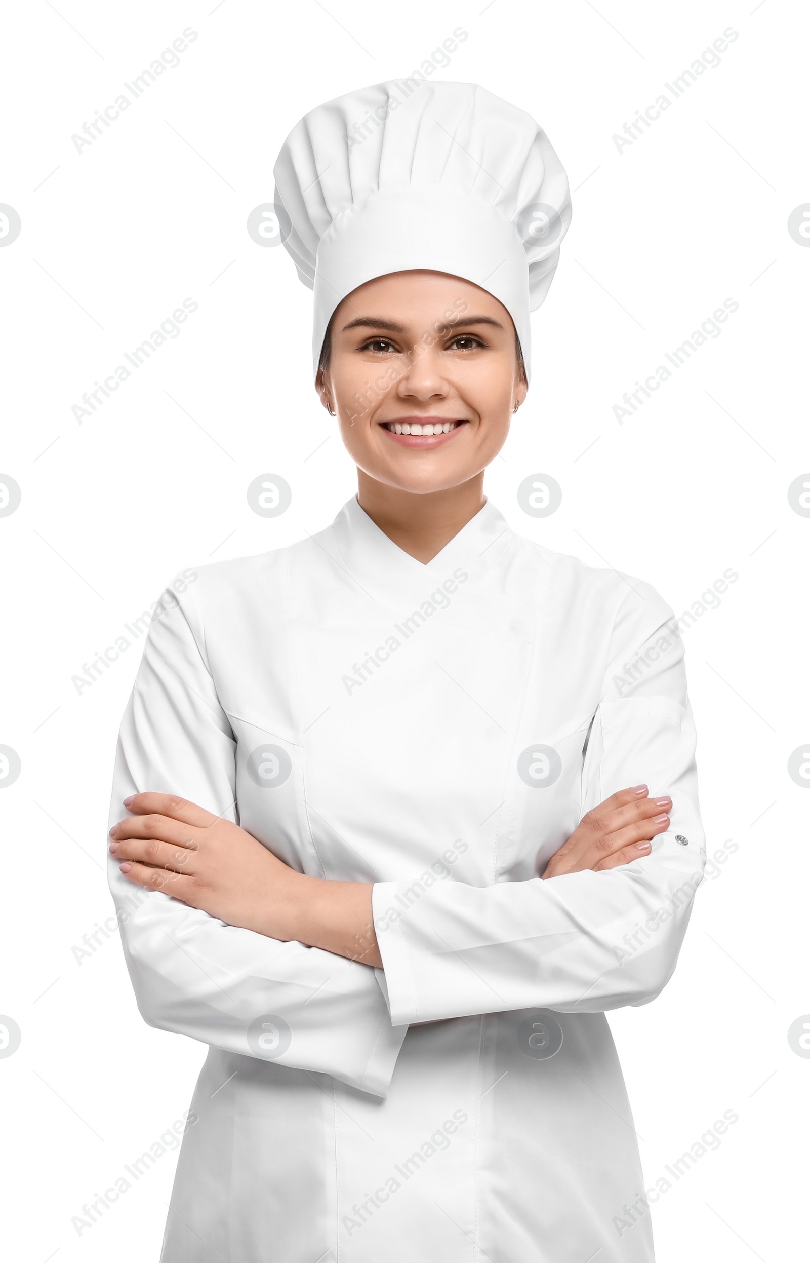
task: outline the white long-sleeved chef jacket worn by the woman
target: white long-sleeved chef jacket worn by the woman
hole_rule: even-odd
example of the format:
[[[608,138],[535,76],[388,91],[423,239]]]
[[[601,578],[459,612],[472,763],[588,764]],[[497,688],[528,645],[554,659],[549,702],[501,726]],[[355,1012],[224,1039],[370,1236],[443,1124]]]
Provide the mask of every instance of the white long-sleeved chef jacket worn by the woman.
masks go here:
[[[671,610],[488,503],[428,565],[352,499],[170,585],[111,822],[178,793],[298,871],[375,883],[384,967],[144,894],[110,860],[141,1014],[211,1046],[164,1263],[649,1263],[604,1010],[675,967],[704,863],[694,753]],[[540,879],[642,782],[672,798],[649,856]]]

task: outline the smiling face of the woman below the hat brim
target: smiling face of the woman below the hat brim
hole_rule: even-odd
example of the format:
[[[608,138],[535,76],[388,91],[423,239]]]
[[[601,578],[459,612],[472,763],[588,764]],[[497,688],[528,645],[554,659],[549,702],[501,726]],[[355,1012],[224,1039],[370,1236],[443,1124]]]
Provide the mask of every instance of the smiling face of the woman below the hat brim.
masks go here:
[[[512,318],[459,277],[377,277],[332,317],[319,394],[368,477],[416,494],[459,486],[495,460],[526,397]]]

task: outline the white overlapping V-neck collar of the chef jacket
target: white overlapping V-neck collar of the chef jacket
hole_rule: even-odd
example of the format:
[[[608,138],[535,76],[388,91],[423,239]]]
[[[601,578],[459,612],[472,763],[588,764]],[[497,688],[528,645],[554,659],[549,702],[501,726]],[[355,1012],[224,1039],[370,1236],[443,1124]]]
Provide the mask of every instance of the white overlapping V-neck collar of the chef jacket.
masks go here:
[[[462,568],[471,580],[481,578],[500,561],[514,538],[503,515],[487,500],[474,518],[424,563],[389,539],[360,506],[356,496],[347,500],[338,513],[332,533],[348,570],[395,600],[405,592],[410,596],[429,591],[452,577],[457,568]]]

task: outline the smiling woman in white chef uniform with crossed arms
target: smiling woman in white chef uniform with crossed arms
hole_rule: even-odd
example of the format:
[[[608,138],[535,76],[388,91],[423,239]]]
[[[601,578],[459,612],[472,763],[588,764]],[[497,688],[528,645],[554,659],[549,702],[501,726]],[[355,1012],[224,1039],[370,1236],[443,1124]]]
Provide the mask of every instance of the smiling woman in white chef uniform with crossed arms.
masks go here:
[[[700,880],[683,645],[482,490],[565,174],[457,83],[328,102],[275,174],[358,495],[178,584],[124,719],[130,975],[211,1046],[163,1258],[650,1260],[604,1012],[665,985]]]

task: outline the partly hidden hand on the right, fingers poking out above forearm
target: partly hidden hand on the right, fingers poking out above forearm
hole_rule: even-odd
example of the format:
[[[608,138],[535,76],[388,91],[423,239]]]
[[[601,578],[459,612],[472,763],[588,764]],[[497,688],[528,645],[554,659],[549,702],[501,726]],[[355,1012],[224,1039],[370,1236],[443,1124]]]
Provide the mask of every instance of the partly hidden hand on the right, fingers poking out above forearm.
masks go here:
[[[650,798],[646,786],[619,789],[589,811],[549,860],[544,879],[564,873],[617,868],[650,854],[656,834],[670,827],[670,797]]]

